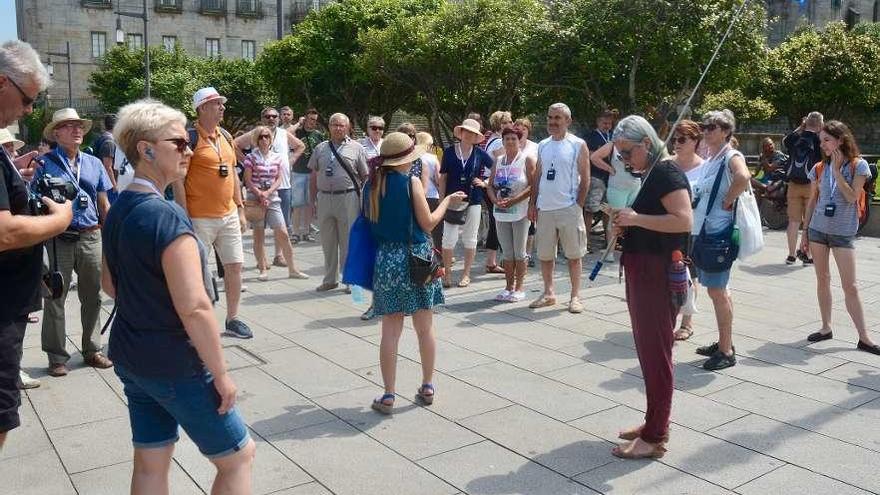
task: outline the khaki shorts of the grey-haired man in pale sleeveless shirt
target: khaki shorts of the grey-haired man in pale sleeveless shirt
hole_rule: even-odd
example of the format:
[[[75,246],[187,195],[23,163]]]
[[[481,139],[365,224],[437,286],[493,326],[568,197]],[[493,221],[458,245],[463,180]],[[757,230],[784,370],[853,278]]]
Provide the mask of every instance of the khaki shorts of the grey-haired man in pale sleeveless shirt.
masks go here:
[[[556,259],[557,243],[562,244],[566,258],[583,258],[587,254],[587,227],[581,207],[575,203],[559,210],[539,210],[535,243],[541,261]]]

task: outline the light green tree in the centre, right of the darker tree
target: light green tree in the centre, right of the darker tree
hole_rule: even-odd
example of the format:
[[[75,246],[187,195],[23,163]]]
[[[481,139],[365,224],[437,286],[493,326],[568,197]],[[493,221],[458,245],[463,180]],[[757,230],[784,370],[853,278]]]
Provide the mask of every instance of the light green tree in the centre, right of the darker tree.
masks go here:
[[[414,92],[404,108],[448,133],[469,111],[527,112],[526,55],[546,24],[539,0],[443,2],[436,13],[398,18],[363,36],[364,67]]]

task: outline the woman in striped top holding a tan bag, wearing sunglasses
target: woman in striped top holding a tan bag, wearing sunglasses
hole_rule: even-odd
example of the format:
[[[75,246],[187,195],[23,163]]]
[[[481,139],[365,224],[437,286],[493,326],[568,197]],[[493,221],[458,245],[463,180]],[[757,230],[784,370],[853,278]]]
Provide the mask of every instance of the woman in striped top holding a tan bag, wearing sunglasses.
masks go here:
[[[281,244],[284,259],[288,261],[288,277],[307,279],[308,275],[296,269],[296,264],[293,261],[293,246],[290,244],[287,224],[284,222],[284,215],[281,212],[278,187],[281,186],[282,157],[272,150],[273,135],[268,127],[257,126],[251,132],[253,136],[256,136],[257,145],[244,159],[246,200],[251,205],[256,204],[266,209],[265,217],[253,223],[254,256],[257,258],[257,270],[260,271],[257,280],[261,282],[269,280],[269,264],[266,262],[265,256],[267,225],[275,233],[276,241]]]

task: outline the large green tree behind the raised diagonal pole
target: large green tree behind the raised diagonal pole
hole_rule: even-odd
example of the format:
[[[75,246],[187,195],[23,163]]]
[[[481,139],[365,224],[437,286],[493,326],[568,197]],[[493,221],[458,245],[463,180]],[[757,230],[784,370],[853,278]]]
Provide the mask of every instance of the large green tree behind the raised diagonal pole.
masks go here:
[[[666,117],[692,91],[742,0],[566,0],[551,4],[550,29],[534,45],[535,95],[578,115],[603,107]],[[766,17],[750,2],[704,82],[742,87],[764,54]]]

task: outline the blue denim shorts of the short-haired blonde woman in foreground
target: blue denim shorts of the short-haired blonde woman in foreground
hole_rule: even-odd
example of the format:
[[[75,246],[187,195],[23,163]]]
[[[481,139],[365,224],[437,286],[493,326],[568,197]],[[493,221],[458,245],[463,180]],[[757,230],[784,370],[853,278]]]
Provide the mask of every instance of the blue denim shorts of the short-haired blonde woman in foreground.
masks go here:
[[[177,442],[178,426],[209,459],[234,454],[247,445],[250,435],[233,408],[217,413],[220,396],[214,377],[204,371],[178,379],[146,378],[118,363],[113,368],[128,399],[132,443],[138,449],[165,447]]]

